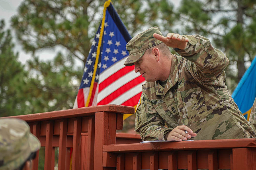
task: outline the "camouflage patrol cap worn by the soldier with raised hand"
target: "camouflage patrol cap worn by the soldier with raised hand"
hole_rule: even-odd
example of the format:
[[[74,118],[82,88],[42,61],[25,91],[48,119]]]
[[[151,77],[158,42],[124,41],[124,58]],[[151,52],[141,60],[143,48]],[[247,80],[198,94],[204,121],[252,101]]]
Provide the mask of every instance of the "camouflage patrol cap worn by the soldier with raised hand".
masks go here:
[[[162,43],[162,41],[153,37],[154,33],[162,35],[158,27],[151,27],[137,34],[126,44],[126,49],[129,52],[129,56],[124,62],[125,66],[134,65],[134,62],[144,55],[146,49]]]

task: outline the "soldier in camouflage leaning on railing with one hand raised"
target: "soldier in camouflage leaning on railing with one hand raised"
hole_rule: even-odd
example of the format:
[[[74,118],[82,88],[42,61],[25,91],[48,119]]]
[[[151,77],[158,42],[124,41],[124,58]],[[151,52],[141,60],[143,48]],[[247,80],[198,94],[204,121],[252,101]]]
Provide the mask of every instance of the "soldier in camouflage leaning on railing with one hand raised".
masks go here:
[[[255,138],[228,93],[224,69],[229,61],[207,38],[164,37],[153,27],[133,37],[126,49],[124,65],[135,65],[146,80],[135,122],[143,141]]]

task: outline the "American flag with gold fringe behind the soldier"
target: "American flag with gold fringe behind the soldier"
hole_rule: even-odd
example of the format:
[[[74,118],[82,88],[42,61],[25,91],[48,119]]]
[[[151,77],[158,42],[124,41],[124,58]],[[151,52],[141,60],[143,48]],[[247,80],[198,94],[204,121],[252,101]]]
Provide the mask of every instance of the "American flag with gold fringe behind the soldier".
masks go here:
[[[92,42],[73,108],[86,106],[96,61],[100,31],[101,24]],[[145,79],[134,72],[134,66],[125,67],[123,65],[129,55],[125,45],[130,39],[131,35],[112,3],[110,3],[110,6],[106,9],[104,33],[100,47],[101,53],[88,106],[103,104],[136,106],[141,96],[141,86]]]

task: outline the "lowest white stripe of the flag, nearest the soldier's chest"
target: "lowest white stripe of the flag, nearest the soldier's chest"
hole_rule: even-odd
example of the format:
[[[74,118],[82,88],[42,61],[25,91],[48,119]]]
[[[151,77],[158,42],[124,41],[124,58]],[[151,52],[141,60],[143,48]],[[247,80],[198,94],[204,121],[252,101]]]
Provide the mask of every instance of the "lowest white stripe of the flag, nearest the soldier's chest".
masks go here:
[[[130,98],[132,98],[136,94],[140,93],[142,91],[141,86],[144,83],[145,82],[140,83],[140,84],[134,86],[130,90],[128,90],[125,93],[123,93],[122,95],[120,95],[115,100],[111,101],[109,104],[122,104],[122,103],[124,103],[125,101],[129,100]]]

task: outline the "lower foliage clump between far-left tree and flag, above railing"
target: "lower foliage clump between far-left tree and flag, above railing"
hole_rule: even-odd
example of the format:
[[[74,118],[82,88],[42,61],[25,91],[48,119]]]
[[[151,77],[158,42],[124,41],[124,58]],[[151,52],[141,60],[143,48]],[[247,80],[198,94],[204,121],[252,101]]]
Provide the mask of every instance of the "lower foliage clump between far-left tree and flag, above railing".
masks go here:
[[[73,67],[71,56],[64,57],[61,53],[53,61],[42,62],[37,57],[28,61],[32,113],[73,107],[79,84],[77,75],[81,74]]]

